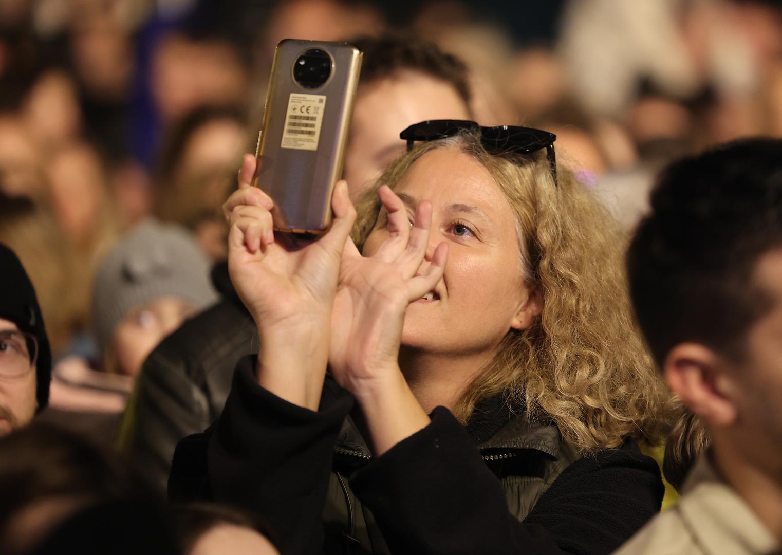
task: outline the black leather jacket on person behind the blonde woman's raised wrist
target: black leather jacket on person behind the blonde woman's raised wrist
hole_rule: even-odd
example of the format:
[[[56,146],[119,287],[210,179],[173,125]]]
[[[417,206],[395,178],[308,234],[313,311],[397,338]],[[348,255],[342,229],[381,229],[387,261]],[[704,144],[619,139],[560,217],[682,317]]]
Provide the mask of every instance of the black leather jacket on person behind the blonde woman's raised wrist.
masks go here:
[[[212,282],[221,301],[152,350],[120,427],[120,449],[161,493],[177,442],[220,416],[236,363],[258,352],[258,330],[231,285],[227,263],[214,267]]]

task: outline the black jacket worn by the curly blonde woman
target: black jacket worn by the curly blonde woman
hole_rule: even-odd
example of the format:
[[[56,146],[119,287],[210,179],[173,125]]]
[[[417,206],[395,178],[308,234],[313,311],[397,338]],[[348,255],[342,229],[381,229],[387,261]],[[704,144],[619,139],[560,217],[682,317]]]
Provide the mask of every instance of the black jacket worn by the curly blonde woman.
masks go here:
[[[262,389],[254,364],[178,446],[169,494],[258,511],[286,553],[611,553],[659,510],[658,466],[633,442],[576,460],[552,424],[495,405],[465,429],[438,407],[371,459],[349,393],[327,380],[316,413]]]

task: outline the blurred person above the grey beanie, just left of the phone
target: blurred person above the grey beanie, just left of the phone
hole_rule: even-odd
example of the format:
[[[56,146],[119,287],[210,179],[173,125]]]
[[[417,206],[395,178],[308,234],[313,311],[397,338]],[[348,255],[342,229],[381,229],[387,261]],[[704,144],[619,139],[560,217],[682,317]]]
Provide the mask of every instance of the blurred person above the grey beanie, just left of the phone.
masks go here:
[[[154,213],[192,231],[214,262],[226,256],[228,230],[220,206],[247,137],[246,117],[239,109],[203,106],[174,125],[160,154]]]

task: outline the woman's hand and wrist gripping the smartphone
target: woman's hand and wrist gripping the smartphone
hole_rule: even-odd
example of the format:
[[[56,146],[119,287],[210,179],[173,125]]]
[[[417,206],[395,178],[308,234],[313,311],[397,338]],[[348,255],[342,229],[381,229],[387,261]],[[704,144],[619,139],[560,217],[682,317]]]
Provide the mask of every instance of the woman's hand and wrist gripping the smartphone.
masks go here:
[[[251,186],[256,159],[245,155],[239,189],[223,205],[228,271],[256,321],[257,378],[274,394],[317,409],[328,360],[329,323],[339,263],[356,219],[346,183],[332,198],[332,226],[317,241],[273,231],[274,202]]]

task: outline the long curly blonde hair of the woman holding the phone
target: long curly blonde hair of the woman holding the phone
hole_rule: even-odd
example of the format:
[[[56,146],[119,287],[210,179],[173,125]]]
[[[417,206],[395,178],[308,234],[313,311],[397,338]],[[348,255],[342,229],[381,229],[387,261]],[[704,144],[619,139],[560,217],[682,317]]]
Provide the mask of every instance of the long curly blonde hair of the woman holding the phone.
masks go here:
[[[479,161],[515,213],[522,274],[542,294],[543,310],[523,331],[508,331],[493,360],[453,408],[466,421],[482,399],[503,393],[529,418],[554,421],[579,453],[619,446],[628,437],[655,443],[669,420],[669,393],[635,322],[627,294],[618,225],[545,158],[483,148],[463,133],[416,145],[389,166],[357,202],[353,240],[361,249],[377,220],[380,184],[394,188],[426,152],[454,148]]]

